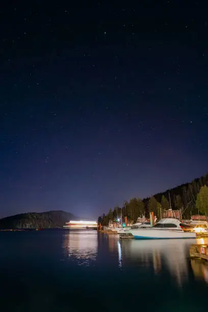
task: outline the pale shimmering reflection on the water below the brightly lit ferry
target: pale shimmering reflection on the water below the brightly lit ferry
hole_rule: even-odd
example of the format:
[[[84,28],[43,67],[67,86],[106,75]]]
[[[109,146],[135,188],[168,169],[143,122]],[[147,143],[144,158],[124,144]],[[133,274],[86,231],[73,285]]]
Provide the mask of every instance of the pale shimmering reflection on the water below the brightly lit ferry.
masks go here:
[[[63,235],[63,251],[71,261],[89,266],[97,257],[97,232],[94,230],[69,230]]]

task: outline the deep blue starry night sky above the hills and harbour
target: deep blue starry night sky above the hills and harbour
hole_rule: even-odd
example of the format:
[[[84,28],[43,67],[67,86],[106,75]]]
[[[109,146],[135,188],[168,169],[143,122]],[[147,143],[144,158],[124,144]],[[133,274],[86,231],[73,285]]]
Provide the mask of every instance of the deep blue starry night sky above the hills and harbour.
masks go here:
[[[0,13],[0,217],[97,219],[203,175],[205,2],[55,3]]]

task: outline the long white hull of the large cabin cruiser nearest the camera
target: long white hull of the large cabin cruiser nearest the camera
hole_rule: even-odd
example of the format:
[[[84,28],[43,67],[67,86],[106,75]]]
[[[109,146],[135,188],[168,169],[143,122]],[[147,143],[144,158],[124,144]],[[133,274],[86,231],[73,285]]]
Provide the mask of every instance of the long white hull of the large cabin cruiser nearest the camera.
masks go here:
[[[194,239],[196,233],[183,232],[178,230],[159,230],[159,229],[136,229],[130,230],[137,240],[157,240],[157,239]]]

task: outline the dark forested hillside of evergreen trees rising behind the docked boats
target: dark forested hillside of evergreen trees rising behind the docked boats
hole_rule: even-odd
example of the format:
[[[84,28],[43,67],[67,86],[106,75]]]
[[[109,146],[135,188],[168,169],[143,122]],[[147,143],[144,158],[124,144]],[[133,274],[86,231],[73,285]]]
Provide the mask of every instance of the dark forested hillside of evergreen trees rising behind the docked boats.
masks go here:
[[[144,199],[135,197],[124,201],[122,206],[116,206],[107,214],[102,214],[98,222],[108,225],[109,221],[115,221],[121,215],[126,216],[129,222],[136,222],[139,217],[149,217],[149,212],[153,212],[160,219],[161,213],[170,208],[180,210],[184,219],[190,219],[196,214],[208,215],[208,173],[194,179],[191,183],[163,193]]]

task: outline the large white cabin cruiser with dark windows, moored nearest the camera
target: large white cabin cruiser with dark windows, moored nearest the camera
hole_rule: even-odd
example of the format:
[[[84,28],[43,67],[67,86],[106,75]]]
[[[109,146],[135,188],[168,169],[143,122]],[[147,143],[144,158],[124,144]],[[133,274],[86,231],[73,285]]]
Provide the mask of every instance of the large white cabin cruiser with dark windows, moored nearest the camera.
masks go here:
[[[174,218],[161,219],[149,228],[129,230],[136,239],[193,239],[196,233],[189,225]]]

